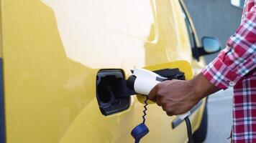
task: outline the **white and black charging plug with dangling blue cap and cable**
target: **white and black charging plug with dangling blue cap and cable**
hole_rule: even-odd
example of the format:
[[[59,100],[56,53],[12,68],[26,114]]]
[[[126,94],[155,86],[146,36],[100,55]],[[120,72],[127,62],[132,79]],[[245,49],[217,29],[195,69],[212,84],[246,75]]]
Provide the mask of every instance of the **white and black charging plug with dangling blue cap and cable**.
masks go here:
[[[163,76],[162,76],[163,75]],[[163,82],[165,80],[171,79],[180,79],[185,80],[184,73],[179,69],[161,69],[158,71],[149,71],[147,69],[134,69],[132,70],[132,75],[125,80],[119,80],[114,83],[113,86],[114,93],[117,98],[125,98],[134,94],[139,94],[143,96],[147,96],[153,87],[156,84]],[[126,86],[124,86],[126,84]],[[147,98],[145,100],[145,110],[143,111],[142,123],[137,125],[132,129],[132,137],[135,139],[135,143],[140,142],[142,137],[150,132],[145,124],[145,116],[147,111]],[[193,136],[191,131],[191,122],[188,119],[188,116],[191,112],[187,112],[185,114],[177,115],[177,117],[181,120],[185,120],[188,132],[188,142],[193,143]]]

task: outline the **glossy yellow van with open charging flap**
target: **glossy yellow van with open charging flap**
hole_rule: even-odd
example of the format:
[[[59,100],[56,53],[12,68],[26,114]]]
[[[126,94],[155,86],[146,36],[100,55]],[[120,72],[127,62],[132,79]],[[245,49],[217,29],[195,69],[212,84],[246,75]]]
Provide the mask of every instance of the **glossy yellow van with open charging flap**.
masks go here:
[[[134,142],[142,97],[113,100],[99,87],[99,74],[125,78],[136,67],[177,67],[191,79],[205,66],[201,55],[219,49],[207,47],[215,42],[209,37],[200,47],[183,1],[0,2],[1,143]],[[190,116],[201,139],[205,106],[204,99]],[[141,142],[187,141],[185,122],[156,104],[148,108],[150,133]]]

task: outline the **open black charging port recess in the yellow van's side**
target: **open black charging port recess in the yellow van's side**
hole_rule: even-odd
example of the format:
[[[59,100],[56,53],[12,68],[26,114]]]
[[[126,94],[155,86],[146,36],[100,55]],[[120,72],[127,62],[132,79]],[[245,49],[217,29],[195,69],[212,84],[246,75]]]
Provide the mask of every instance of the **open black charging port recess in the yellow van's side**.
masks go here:
[[[101,69],[96,78],[96,97],[101,113],[105,116],[122,112],[129,108],[129,97],[119,95],[127,88],[124,71],[121,69]],[[121,92],[122,93],[122,92]],[[124,93],[125,94],[125,93]]]

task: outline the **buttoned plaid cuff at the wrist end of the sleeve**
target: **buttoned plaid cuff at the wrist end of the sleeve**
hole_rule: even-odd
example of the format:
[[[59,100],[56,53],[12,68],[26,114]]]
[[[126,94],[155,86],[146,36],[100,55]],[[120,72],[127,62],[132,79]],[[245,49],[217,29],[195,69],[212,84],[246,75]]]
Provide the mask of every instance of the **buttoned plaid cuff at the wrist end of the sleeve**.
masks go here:
[[[242,79],[218,57],[206,66],[202,73],[211,84],[214,84],[219,89],[234,87],[234,84]]]

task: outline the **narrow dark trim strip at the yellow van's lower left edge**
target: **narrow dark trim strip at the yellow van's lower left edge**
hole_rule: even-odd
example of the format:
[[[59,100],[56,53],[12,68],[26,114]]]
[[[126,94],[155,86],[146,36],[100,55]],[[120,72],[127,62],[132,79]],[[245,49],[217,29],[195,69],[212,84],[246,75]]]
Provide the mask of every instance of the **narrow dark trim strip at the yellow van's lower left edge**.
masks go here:
[[[0,58],[0,143],[5,143],[3,59]]]

